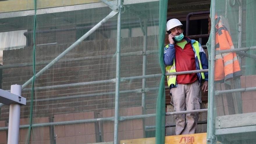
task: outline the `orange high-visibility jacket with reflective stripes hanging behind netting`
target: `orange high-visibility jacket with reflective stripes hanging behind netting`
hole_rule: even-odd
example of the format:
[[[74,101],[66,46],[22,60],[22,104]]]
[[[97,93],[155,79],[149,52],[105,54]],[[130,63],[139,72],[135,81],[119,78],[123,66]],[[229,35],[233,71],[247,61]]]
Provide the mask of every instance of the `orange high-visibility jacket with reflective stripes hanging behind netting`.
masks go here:
[[[234,49],[234,45],[222,17],[216,15],[216,51]],[[234,52],[217,54],[215,56],[214,81],[224,82],[242,75],[237,54]]]

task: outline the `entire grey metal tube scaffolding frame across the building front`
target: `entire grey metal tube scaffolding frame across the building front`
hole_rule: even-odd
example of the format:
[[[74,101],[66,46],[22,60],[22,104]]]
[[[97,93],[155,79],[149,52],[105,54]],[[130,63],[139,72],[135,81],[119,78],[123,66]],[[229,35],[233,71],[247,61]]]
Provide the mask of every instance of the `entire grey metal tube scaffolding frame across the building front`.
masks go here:
[[[239,0],[240,1],[240,0]],[[59,31],[72,31],[72,30],[81,30],[81,29],[89,29],[91,28],[89,31],[87,31],[83,36],[81,36],[81,38],[79,38],[78,40],[76,40],[71,46],[69,46],[67,49],[65,49],[65,51],[63,51],[61,54],[59,54],[54,60],[52,61],[43,61],[43,62],[38,62],[36,63],[36,65],[38,66],[42,66],[42,65],[46,65],[44,66],[40,71],[34,73],[33,77],[29,78],[29,80],[27,80],[23,85],[22,85],[22,90],[23,92],[29,92],[31,91],[33,93],[33,91],[36,90],[52,90],[52,89],[56,89],[56,88],[70,88],[70,87],[76,87],[76,86],[88,86],[88,85],[93,85],[93,84],[113,84],[115,83],[115,91],[112,92],[103,92],[103,93],[93,93],[93,94],[81,94],[81,95],[67,95],[67,96],[61,96],[61,97],[51,97],[51,98],[43,98],[43,99],[32,99],[32,100],[27,100],[27,103],[32,103],[32,108],[33,108],[33,102],[45,102],[45,101],[57,101],[57,100],[65,100],[65,99],[75,99],[75,98],[85,98],[85,97],[96,97],[96,96],[102,96],[102,95],[115,95],[115,102],[114,102],[114,116],[112,117],[106,117],[106,118],[93,118],[93,119],[85,119],[85,120],[68,120],[68,121],[62,121],[62,122],[45,122],[45,123],[38,123],[38,124],[29,124],[29,125],[21,125],[20,128],[35,128],[35,127],[45,127],[45,126],[58,126],[58,125],[72,125],[72,124],[81,124],[81,123],[90,123],[90,122],[104,122],[104,121],[112,121],[114,122],[114,130],[113,130],[113,143],[117,144],[118,142],[118,126],[119,126],[119,122],[125,121],[125,120],[133,120],[133,119],[144,119],[144,118],[150,118],[150,117],[156,117],[157,114],[146,114],[146,92],[150,92],[150,91],[157,91],[159,90],[158,87],[150,87],[148,88],[146,85],[146,79],[151,79],[151,78],[160,78],[163,76],[168,76],[168,75],[179,75],[179,74],[191,74],[191,73],[198,73],[198,72],[208,72],[207,70],[194,70],[194,71],[186,71],[186,72],[175,72],[175,73],[163,73],[163,74],[147,74],[147,57],[152,55],[152,54],[158,54],[159,50],[149,50],[148,49],[148,23],[149,22],[154,22],[154,20],[148,20],[145,15],[139,13],[139,12],[135,12],[137,15],[139,15],[139,24],[140,24],[140,28],[141,31],[143,33],[143,50],[142,51],[135,51],[135,52],[125,52],[125,53],[121,53],[121,29],[122,29],[122,23],[121,23],[121,19],[122,19],[122,13],[125,11],[126,5],[129,4],[134,4],[136,3],[136,1],[124,1],[122,2],[121,0],[118,1],[106,1],[106,0],[101,0],[102,3],[94,3],[94,8],[102,8],[102,7],[106,7],[109,6],[109,8],[111,8],[111,12],[109,13],[109,15],[107,15],[106,17],[104,17],[99,23],[97,23],[95,26],[93,26],[93,28],[91,28],[91,26],[81,26],[81,27],[77,27],[77,28],[65,28],[65,29],[55,29],[55,30],[43,30],[43,31],[38,31],[38,32],[26,32],[24,33],[24,35],[26,35],[27,38],[27,45],[31,45],[34,44],[35,45],[35,41],[34,42],[29,42],[29,34],[34,34],[35,33],[50,33],[50,32],[59,32]],[[157,2],[157,0],[151,0],[151,1],[140,1],[138,3],[150,3],[150,2]],[[104,5],[104,4],[105,5]],[[167,3],[167,1],[163,2],[163,3]],[[230,0],[226,0],[226,9],[225,9],[225,15],[227,15],[227,5],[228,3],[231,3]],[[235,3],[235,1],[234,1]],[[241,1],[239,2],[239,24],[238,24],[238,31],[239,31],[239,35],[238,35],[238,49],[230,49],[230,50],[220,50],[220,51],[216,51],[215,50],[215,14],[216,14],[216,0],[212,0],[211,1],[211,53],[210,53],[210,60],[209,60],[209,64],[210,64],[210,68],[209,68],[209,72],[210,72],[210,81],[209,81],[209,97],[208,97],[208,120],[207,120],[207,143],[215,143],[216,141],[216,135],[220,135],[218,133],[216,133],[215,131],[215,115],[214,115],[214,106],[215,106],[215,99],[214,96],[215,95],[219,95],[219,94],[224,94],[224,93],[234,93],[234,92],[247,92],[247,91],[254,91],[256,90],[256,87],[250,87],[250,88],[240,88],[240,86],[235,87],[234,89],[231,90],[215,90],[214,88],[214,69],[215,69],[215,56],[217,54],[224,54],[227,52],[237,52],[237,54],[239,54],[239,56],[247,56],[249,58],[255,58],[255,55],[253,54],[247,54],[245,52],[241,52],[241,51],[250,51],[250,50],[254,50],[256,49],[255,46],[250,46],[250,47],[242,47],[242,5],[241,5]],[[232,4],[231,4],[232,5]],[[234,4],[233,4],[234,5]],[[92,4],[81,4],[81,5],[77,5],[77,6],[69,6],[67,9],[65,8],[45,8],[45,9],[38,9],[37,11],[34,12],[34,10],[27,10],[24,13],[20,13],[20,12],[10,12],[10,13],[0,13],[0,19],[6,19],[6,18],[12,18],[12,17],[21,17],[21,16],[27,16],[27,15],[40,15],[40,14],[45,14],[45,13],[57,13],[57,12],[65,12],[65,11],[72,11],[72,10],[83,10],[83,9],[90,9],[92,8]],[[35,8],[36,10],[36,8]],[[191,15],[195,15],[195,14],[208,14],[209,11],[205,11],[202,13],[191,13],[190,15],[188,15],[188,19],[189,16]],[[86,38],[88,38],[93,32],[95,32],[98,29],[102,29],[100,28],[104,23],[106,23],[109,19],[111,19],[112,17],[115,17],[117,15],[117,36],[116,36],[116,52],[115,54],[106,54],[106,55],[100,55],[100,56],[86,56],[86,57],[79,57],[79,58],[64,58],[66,56],[66,54],[68,54],[70,51],[72,51],[75,47],[77,47],[81,42],[83,42],[83,40],[86,40]],[[159,15],[161,16],[161,13],[159,13]],[[144,19],[143,19],[144,18]],[[166,21],[162,20],[162,23],[165,23]],[[134,22],[134,23],[138,23],[138,22]],[[161,21],[159,21],[160,23]],[[189,22],[189,21],[187,21]],[[1,23],[0,23],[1,24]],[[188,24],[188,23],[187,23]],[[109,23],[109,26],[113,27],[115,25]],[[160,24],[159,24],[160,25]],[[188,25],[186,26],[188,29]],[[160,30],[161,31],[161,30]],[[187,35],[189,34],[189,31],[186,31]],[[159,33],[160,35],[161,33]],[[191,38],[195,38],[198,37],[198,35],[191,35],[189,36]],[[200,35],[200,37],[209,37],[208,34],[205,35]],[[34,38],[35,40],[35,38]],[[121,77],[120,76],[120,58],[121,57],[126,57],[126,56],[142,56],[142,75],[140,76],[132,76],[132,77]],[[115,78],[113,79],[106,79],[106,80],[99,80],[99,81],[88,81],[88,82],[79,82],[79,83],[68,83],[68,84],[58,84],[58,85],[51,85],[51,86],[39,86],[39,87],[32,87],[32,88],[26,88],[29,86],[29,84],[33,83],[35,78],[40,77],[42,74],[44,74],[47,70],[49,70],[53,65],[55,65],[58,62],[72,62],[72,61],[84,61],[84,60],[94,60],[97,58],[116,58],[116,71],[115,71]],[[239,58],[239,61],[241,63],[241,58]],[[23,63],[23,64],[7,64],[7,65],[3,65],[0,67],[0,69],[6,69],[6,68],[15,68],[15,67],[28,67],[28,66],[33,66],[35,64],[35,62],[33,63]],[[124,81],[131,81],[131,80],[141,80],[142,79],[142,85],[141,88],[138,89],[132,89],[132,90],[120,90],[120,83],[124,82]],[[164,88],[168,88],[168,87],[164,87]],[[120,110],[120,106],[119,106],[119,98],[120,98],[120,94],[125,94],[125,93],[140,93],[141,94],[141,107],[142,107],[142,114],[141,115],[130,115],[130,116],[120,116],[119,115],[119,110]],[[163,95],[162,95],[163,96]],[[236,101],[239,102],[239,100],[241,100],[241,95],[240,95],[240,99],[239,96],[237,97],[238,99],[236,99]],[[0,104],[0,108],[3,106],[3,104]],[[240,107],[241,109],[241,107]],[[237,110],[239,111],[239,110]],[[193,110],[193,111],[180,111],[180,112],[167,112],[165,113],[165,115],[176,115],[176,114],[186,114],[186,113],[199,113],[199,112],[207,112],[207,109],[200,109],[200,110]],[[241,113],[241,112],[239,112]],[[165,116],[164,115],[164,116]],[[206,122],[199,122],[205,124]],[[155,126],[145,126],[144,129],[154,129],[157,128],[157,124],[156,127]],[[173,127],[174,125],[170,126],[167,125],[165,127]],[[8,127],[0,127],[0,131],[2,130],[7,130]],[[164,131],[164,129],[161,129],[161,131]],[[30,134],[28,134],[30,135]],[[163,135],[162,135],[163,137]],[[159,139],[157,139],[156,142]]]

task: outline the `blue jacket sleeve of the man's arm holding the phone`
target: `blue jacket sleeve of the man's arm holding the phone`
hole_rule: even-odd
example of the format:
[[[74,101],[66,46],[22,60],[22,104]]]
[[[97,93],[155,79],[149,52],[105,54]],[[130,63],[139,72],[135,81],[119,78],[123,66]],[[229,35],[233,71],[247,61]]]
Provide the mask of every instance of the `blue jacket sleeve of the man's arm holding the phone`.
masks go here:
[[[164,47],[163,61],[165,65],[173,65],[175,57],[175,49],[173,44],[169,44],[169,47]]]

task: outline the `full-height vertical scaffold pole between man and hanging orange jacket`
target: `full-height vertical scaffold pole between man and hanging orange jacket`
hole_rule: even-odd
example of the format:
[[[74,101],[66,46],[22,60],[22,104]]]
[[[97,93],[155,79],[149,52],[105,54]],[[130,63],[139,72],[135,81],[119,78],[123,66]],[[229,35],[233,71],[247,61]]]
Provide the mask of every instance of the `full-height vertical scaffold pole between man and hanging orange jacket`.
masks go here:
[[[210,84],[208,91],[208,124],[207,124],[207,144],[214,143],[214,65],[215,65],[215,14],[216,0],[211,1],[211,59],[210,59]]]

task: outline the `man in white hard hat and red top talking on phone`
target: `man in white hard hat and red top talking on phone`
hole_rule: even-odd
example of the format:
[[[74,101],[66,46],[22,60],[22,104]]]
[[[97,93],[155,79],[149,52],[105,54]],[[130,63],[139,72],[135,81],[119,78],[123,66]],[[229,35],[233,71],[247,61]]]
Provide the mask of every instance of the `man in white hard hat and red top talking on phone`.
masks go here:
[[[166,71],[181,72],[208,69],[208,60],[204,49],[196,40],[183,35],[182,23],[170,19],[166,23],[169,45],[164,48]],[[201,89],[208,90],[208,72],[167,76],[174,111],[200,109]],[[175,115],[176,135],[194,134],[198,122],[198,113]]]

